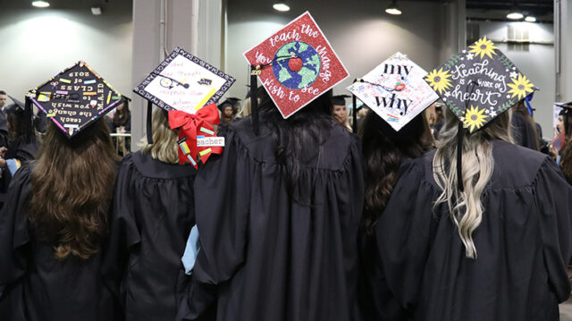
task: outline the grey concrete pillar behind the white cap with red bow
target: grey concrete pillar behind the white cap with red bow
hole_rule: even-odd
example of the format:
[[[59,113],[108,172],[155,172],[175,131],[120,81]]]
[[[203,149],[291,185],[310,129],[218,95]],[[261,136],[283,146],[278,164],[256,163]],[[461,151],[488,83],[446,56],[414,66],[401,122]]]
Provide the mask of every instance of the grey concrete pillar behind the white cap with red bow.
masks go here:
[[[161,16],[162,3],[166,20]],[[134,0],[133,57],[131,89],[152,72],[176,46],[219,65],[222,59],[222,0]],[[161,24],[165,43],[162,48]],[[131,149],[146,132],[147,100],[133,94],[131,108]]]

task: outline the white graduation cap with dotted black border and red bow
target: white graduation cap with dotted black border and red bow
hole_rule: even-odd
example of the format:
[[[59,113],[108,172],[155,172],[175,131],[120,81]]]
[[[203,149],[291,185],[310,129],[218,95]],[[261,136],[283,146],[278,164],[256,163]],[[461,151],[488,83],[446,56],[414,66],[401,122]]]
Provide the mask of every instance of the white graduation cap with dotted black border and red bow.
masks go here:
[[[198,168],[197,156],[203,163],[212,153],[221,154],[223,148],[201,141],[218,141],[213,124],[220,123],[214,103],[231,88],[235,79],[206,63],[197,56],[190,55],[181,47],[176,47],[154,71],[149,73],[133,91],[147,99],[147,141],[153,142],[151,129],[152,105],[169,112],[171,129],[179,129],[179,161],[189,161]]]

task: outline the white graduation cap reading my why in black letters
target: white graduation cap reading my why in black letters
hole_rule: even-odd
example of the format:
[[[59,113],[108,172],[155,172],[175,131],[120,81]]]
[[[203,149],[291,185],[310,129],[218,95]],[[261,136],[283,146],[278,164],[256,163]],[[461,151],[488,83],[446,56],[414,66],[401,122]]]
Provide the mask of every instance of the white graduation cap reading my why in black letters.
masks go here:
[[[406,55],[396,53],[354,82],[348,90],[395,131],[400,131],[439,98],[425,82],[426,74]]]

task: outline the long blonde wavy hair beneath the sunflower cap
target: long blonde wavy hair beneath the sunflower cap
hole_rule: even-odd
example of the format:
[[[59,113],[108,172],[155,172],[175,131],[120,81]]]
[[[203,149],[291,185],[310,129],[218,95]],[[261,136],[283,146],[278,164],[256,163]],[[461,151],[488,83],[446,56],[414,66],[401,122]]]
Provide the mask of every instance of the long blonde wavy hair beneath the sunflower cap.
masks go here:
[[[512,142],[511,113],[510,110],[502,113],[483,129],[464,135],[461,169],[464,191],[461,192],[458,190],[456,162],[459,121],[449,108],[445,112],[445,124],[433,157],[433,177],[442,189],[434,207],[447,203],[467,258],[476,258],[473,232],[483,219],[481,195],[491,180],[494,169],[492,140]]]

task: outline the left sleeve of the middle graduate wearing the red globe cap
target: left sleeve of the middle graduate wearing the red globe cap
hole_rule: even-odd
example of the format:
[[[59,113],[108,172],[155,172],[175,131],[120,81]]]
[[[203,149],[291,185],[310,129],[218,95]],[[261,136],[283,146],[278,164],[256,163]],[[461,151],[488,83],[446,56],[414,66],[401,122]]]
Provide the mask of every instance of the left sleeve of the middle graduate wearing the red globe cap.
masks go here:
[[[210,159],[195,181],[195,204],[201,250],[194,277],[200,283],[229,280],[244,259],[253,170],[247,151],[234,131],[224,131],[222,156]]]

